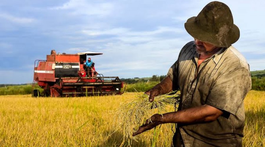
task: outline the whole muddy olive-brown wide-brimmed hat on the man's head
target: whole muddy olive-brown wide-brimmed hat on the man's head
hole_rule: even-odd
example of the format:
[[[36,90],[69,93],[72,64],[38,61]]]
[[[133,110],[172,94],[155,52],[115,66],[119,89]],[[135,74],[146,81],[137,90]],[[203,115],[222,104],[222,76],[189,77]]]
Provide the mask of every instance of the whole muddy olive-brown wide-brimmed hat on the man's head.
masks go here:
[[[185,23],[185,29],[195,39],[218,47],[229,47],[240,36],[238,27],[233,24],[229,7],[219,1],[207,4],[197,17]]]

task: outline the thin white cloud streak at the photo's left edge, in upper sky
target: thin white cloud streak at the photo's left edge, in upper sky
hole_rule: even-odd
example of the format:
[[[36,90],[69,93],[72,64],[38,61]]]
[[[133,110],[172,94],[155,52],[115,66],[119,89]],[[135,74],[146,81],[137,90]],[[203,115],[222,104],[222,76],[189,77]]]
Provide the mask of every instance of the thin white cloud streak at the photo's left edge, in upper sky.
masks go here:
[[[6,19],[14,23],[19,23],[19,24],[29,24],[35,21],[35,19],[32,19],[32,18],[16,17],[16,16],[13,16],[7,13],[0,13],[0,18]]]

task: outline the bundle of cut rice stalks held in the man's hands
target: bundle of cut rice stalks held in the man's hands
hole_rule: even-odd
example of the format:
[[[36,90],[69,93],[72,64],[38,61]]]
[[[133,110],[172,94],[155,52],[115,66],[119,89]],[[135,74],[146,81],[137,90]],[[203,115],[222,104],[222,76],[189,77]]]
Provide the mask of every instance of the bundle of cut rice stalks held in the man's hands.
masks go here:
[[[149,96],[145,93],[134,93],[132,99],[128,99],[120,104],[120,107],[115,111],[116,131],[120,130],[123,133],[123,142],[121,146],[137,137],[132,136],[138,128],[154,113],[163,114],[166,112],[168,105],[176,106],[179,103],[179,93],[171,92],[164,95],[159,95],[154,98],[153,102],[149,102]]]

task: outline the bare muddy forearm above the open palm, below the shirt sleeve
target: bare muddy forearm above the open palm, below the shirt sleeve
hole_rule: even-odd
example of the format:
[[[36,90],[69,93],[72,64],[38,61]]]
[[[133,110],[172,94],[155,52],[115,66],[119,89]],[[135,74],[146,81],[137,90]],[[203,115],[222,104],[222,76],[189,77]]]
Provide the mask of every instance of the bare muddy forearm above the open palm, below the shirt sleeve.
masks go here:
[[[223,112],[209,105],[163,114],[161,123],[192,124],[215,121]]]

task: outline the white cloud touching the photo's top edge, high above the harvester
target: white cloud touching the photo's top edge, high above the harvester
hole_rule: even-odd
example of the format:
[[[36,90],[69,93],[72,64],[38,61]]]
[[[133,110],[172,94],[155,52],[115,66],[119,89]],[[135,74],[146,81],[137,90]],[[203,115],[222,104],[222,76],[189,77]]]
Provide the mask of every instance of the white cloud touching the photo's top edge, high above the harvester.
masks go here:
[[[105,3],[88,3],[86,0],[70,0],[62,6],[52,7],[53,10],[71,10],[74,15],[100,15],[105,16],[111,13],[113,5]]]

